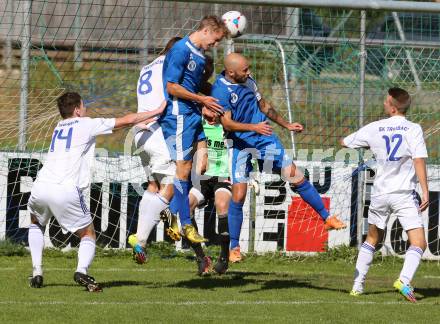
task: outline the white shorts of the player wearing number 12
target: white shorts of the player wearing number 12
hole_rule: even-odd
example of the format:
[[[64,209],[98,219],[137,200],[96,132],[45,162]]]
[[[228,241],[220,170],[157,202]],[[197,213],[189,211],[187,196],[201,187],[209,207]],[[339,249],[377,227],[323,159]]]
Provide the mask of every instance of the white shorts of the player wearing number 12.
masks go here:
[[[390,193],[371,197],[368,223],[385,229],[390,214],[396,215],[405,231],[423,227],[415,192]]]

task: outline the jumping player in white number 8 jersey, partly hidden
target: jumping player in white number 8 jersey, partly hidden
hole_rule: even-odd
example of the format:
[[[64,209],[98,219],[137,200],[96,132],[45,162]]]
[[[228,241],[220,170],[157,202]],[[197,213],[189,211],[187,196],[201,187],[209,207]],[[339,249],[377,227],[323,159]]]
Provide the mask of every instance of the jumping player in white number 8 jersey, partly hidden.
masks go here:
[[[173,37],[168,41],[164,50],[150,64],[141,69],[137,84],[138,112],[151,111],[158,107],[165,107],[166,100],[163,90],[162,70],[165,55],[171,47],[181,40],[181,37]],[[146,127],[135,127],[135,144],[142,148],[140,158],[148,179],[148,189],[144,192],[139,203],[139,218],[136,234],[128,237],[128,242],[133,248],[133,256],[137,263],[144,263],[147,259],[145,246],[151,231],[159,223],[160,215],[150,211],[148,202],[159,197],[159,192],[173,190],[176,165],[171,160],[162,128],[157,121],[153,121]],[[171,216],[169,213],[165,216]],[[166,217],[169,224],[168,235],[174,240],[180,240],[179,227],[176,217]]]

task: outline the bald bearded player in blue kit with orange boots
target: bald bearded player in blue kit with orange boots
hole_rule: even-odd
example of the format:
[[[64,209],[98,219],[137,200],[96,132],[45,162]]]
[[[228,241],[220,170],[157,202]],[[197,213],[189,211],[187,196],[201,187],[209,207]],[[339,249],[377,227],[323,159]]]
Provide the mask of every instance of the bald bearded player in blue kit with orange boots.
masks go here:
[[[277,171],[290,182],[301,198],[322,217],[327,230],[346,227],[336,216],[329,217],[315,187],[285,154],[281,141],[272,133],[269,119],[289,131],[301,132],[303,126],[287,122],[261,96],[256,82],[250,77],[249,63],[244,56],[232,53],[225,58],[225,71],[218,75],[211,95],[225,110],[221,123],[232,141],[229,152],[232,200],[228,212],[231,262],[241,260],[239,238],[252,158],[257,159],[260,171]]]

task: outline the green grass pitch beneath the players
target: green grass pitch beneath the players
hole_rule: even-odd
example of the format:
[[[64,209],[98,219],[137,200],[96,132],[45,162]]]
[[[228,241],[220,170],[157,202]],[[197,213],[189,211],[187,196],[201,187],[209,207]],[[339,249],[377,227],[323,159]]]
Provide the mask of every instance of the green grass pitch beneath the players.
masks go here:
[[[440,267],[423,262],[414,281],[419,302],[392,288],[402,261],[378,258],[366,293],[348,295],[355,253],[286,258],[251,256],[226,275],[196,276],[187,255],[156,252],[139,266],[128,252],[98,253],[90,274],[103,293],[73,281],[76,254],[45,252],[44,287],[28,287],[31,259],[0,257],[1,323],[426,323],[438,320]],[[164,256],[165,255],[165,256]]]

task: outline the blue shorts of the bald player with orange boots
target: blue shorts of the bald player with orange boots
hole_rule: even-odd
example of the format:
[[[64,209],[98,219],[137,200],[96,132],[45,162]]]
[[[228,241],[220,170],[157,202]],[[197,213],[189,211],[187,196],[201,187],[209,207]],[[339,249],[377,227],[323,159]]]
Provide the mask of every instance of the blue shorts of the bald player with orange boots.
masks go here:
[[[249,180],[249,173],[253,170],[252,159],[257,160],[260,172],[265,173],[279,172],[293,163],[275,135],[257,141],[253,147],[233,145],[229,154],[232,183],[245,183]]]

